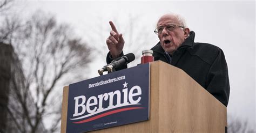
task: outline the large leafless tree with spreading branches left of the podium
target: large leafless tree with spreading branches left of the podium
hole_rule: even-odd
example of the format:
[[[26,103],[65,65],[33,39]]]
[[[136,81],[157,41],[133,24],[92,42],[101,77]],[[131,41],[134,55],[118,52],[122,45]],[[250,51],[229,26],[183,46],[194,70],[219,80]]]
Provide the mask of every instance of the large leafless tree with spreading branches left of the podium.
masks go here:
[[[2,37],[2,41],[14,47],[24,73],[23,90],[19,90],[19,84],[14,83],[17,89],[14,93],[21,109],[10,108],[9,112],[20,114],[28,123],[29,130],[17,125],[21,132],[40,132],[39,124],[46,117],[52,121],[52,127],[47,130],[58,130],[62,87],[66,85],[62,81],[65,78],[71,81],[72,76],[82,74],[77,71],[90,62],[90,49],[81,38],[75,36],[70,26],[57,24],[54,17],[41,11],[33,14],[25,23],[6,21],[5,27],[15,29]],[[60,82],[63,84],[57,88]]]

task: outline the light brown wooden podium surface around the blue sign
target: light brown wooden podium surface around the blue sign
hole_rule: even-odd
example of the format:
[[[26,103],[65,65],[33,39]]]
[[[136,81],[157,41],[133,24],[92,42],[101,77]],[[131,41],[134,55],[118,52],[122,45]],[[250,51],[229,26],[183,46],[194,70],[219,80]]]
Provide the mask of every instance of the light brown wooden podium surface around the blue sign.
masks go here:
[[[66,132],[69,87],[65,86],[61,132]],[[225,132],[226,107],[183,70],[150,63],[150,120],[91,132]]]

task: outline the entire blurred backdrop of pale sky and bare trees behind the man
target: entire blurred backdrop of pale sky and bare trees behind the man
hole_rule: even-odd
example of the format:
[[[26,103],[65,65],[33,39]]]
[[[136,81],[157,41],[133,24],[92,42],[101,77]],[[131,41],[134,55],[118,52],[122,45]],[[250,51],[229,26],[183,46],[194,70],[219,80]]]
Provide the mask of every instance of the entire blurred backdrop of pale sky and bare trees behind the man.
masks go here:
[[[223,49],[230,76],[228,132],[255,128],[255,1],[0,0],[0,132],[60,132],[63,86],[97,77],[112,20],[124,53],[158,43],[160,16],[178,13],[195,42]]]

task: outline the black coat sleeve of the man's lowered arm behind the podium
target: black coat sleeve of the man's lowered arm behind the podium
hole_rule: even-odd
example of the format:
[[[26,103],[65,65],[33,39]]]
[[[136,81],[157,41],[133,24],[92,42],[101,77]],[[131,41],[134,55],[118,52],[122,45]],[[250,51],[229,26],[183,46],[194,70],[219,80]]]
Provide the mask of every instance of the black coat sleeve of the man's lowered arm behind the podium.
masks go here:
[[[217,57],[208,71],[206,85],[206,90],[227,106],[230,96],[230,82],[228,79],[227,63],[221,49],[218,50]]]

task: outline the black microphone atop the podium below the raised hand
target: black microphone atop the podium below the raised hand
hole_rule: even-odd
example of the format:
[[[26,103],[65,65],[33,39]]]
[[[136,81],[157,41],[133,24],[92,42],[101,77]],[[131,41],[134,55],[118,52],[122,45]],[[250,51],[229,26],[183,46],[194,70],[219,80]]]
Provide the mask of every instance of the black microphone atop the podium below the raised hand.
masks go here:
[[[105,65],[103,68],[99,69],[99,70],[98,70],[99,75],[103,75],[103,72],[104,72],[104,71],[110,71],[110,72],[112,72],[112,70],[113,70],[114,68],[118,68],[118,67],[120,67],[121,65],[128,64],[128,63],[134,61],[135,56],[134,56],[134,54],[129,53],[129,54],[126,54],[126,55],[124,55],[124,56],[122,56],[122,57],[119,57],[119,58],[117,58],[117,59],[118,59],[118,60],[113,60],[110,64],[107,64],[107,65]]]

